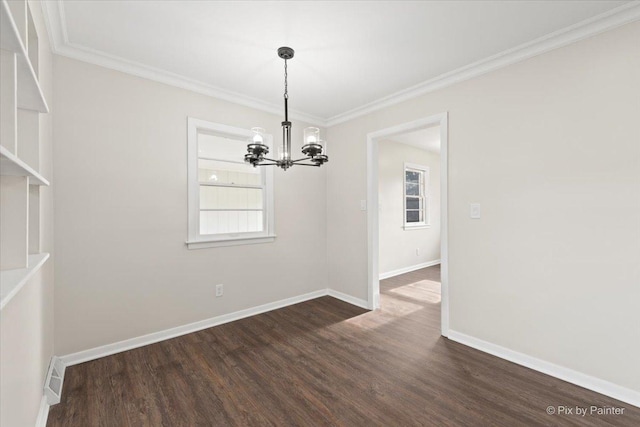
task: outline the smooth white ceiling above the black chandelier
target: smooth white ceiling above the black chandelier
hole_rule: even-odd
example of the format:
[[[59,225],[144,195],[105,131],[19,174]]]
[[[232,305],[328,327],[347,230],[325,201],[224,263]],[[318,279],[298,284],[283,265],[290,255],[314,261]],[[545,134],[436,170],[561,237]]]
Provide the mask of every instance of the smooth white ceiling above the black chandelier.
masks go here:
[[[276,50],[290,46],[290,108],[324,125],[628,3],[43,2],[56,53],[274,112],[284,79]]]

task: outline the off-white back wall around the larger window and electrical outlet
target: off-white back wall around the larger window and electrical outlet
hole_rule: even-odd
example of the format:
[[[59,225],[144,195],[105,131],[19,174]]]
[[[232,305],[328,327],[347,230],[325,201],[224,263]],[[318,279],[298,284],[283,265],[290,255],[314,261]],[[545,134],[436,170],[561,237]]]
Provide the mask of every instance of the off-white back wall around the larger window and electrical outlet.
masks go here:
[[[185,245],[187,117],[276,141],[282,117],[64,57],[54,78],[56,354],[327,287],[326,168],[275,171],[275,243]]]

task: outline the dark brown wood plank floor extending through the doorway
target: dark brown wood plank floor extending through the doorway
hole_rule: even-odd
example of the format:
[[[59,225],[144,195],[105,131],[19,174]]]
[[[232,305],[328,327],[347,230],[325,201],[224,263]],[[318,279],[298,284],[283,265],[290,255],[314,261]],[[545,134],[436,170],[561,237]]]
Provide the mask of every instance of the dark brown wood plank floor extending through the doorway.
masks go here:
[[[323,297],[72,366],[47,425],[640,426],[639,408],[442,338],[439,276],[382,281],[375,312]]]

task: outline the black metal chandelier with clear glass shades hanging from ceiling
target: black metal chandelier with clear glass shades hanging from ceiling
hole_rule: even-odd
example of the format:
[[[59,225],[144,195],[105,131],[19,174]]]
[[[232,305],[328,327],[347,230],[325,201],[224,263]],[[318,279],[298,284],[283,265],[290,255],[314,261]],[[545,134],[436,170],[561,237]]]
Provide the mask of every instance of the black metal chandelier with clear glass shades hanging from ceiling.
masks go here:
[[[322,166],[329,161],[326,155],[326,143],[320,139],[320,129],[309,127],[304,130],[302,154],[300,159],[291,158],[291,122],[289,121],[289,92],[287,88],[287,61],[293,58],[293,49],[281,47],[278,49],[278,56],[284,59],[284,122],[282,122],[282,145],[279,148],[279,159],[265,157],[269,154],[269,147],[264,143],[264,129],[252,128],[252,137],[247,145],[247,154],[244,161],[256,166],[278,166],[284,170],[293,165],[301,166]],[[324,153],[323,153],[324,145]]]

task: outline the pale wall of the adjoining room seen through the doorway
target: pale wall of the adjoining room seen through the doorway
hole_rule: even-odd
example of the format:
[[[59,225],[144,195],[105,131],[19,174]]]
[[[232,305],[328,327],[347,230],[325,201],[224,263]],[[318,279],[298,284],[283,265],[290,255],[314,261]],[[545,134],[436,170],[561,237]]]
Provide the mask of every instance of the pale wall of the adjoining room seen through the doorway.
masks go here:
[[[404,164],[429,168],[429,228],[404,229]],[[378,143],[381,276],[440,259],[440,155],[411,145]],[[416,253],[418,249],[418,253]]]

